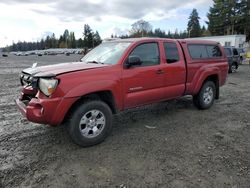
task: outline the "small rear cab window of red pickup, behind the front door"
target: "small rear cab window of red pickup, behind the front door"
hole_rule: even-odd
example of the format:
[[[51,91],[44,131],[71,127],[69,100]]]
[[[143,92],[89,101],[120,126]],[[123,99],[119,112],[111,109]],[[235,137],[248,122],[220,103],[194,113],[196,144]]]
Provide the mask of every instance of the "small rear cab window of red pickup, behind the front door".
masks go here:
[[[167,63],[175,63],[179,61],[180,59],[179,52],[175,43],[165,42],[164,49],[165,49],[165,54],[167,56],[166,59]]]

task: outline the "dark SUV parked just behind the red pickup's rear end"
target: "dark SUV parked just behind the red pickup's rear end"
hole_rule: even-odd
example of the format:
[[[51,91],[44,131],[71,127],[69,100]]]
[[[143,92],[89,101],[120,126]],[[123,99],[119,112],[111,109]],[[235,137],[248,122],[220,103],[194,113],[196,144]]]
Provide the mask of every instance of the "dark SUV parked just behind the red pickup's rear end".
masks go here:
[[[236,72],[240,65],[240,55],[238,50],[234,47],[224,47],[228,64],[229,64],[229,73]]]

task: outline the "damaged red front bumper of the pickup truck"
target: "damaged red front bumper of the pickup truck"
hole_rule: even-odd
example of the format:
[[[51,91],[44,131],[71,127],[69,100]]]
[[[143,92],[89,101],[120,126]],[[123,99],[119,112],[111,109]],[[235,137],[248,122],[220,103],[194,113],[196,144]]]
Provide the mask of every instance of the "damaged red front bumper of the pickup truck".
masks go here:
[[[62,123],[66,113],[76,100],[76,98],[32,98],[27,105],[21,99],[16,99],[15,102],[22,115],[29,121],[56,126]]]

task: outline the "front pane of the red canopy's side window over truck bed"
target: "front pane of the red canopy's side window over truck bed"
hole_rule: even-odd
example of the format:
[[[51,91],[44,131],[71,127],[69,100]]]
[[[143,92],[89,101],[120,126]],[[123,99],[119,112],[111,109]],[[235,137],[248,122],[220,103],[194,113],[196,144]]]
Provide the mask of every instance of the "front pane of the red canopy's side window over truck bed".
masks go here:
[[[206,45],[190,44],[188,45],[188,51],[193,59],[208,58]]]

